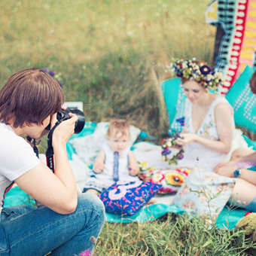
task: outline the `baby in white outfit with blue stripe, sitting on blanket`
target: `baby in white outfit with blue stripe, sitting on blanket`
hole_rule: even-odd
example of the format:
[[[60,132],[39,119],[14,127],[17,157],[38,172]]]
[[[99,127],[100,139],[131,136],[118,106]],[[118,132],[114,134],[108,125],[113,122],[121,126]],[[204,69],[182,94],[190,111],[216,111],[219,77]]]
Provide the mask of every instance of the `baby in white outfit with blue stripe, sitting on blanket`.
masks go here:
[[[130,151],[130,125],[126,120],[111,120],[107,133],[108,143],[93,165],[93,172],[84,187],[84,192],[101,194],[117,181],[139,181],[139,165]]]

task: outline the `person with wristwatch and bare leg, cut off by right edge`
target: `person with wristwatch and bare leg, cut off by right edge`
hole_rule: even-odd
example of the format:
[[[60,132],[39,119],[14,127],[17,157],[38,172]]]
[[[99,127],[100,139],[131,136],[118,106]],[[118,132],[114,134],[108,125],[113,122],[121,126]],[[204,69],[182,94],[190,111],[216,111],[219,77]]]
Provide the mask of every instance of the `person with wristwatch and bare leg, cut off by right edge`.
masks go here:
[[[256,72],[251,76],[250,87],[256,94]],[[256,151],[236,149],[227,163],[221,163],[215,168],[219,175],[236,178],[230,201],[256,212]]]

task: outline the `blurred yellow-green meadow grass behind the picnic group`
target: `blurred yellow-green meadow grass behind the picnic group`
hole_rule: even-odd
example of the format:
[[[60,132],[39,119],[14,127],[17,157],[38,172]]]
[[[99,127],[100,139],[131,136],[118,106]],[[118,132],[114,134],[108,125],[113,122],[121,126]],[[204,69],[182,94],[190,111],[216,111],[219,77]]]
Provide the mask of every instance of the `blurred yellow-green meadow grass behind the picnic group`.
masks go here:
[[[2,1],[1,86],[20,69],[47,67],[61,73],[66,101],[84,102],[87,120],[128,118],[157,135],[167,126],[157,86],[166,64],[180,56],[212,62],[208,3]]]

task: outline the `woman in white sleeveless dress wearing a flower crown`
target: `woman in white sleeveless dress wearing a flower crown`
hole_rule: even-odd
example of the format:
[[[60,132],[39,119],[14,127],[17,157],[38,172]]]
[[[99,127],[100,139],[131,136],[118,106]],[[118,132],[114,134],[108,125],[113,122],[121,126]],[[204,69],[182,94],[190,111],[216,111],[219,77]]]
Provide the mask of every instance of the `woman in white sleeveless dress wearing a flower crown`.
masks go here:
[[[218,163],[230,156],[235,123],[233,109],[224,96],[209,90],[221,84],[220,74],[205,62],[177,60],[170,70],[181,78],[187,96],[184,111],[184,129],[176,139],[183,147],[184,157],[178,166],[213,172]]]

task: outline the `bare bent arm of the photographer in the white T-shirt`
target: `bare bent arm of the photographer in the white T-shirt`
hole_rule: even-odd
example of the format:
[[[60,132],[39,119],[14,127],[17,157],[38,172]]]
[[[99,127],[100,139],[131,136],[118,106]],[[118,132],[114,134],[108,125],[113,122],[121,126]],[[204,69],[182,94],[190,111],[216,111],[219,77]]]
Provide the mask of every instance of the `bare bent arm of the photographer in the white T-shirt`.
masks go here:
[[[60,214],[74,212],[78,203],[77,186],[66,152],[66,142],[74,133],[76,120],[78,117],[73,116],[63,121],[53,132],[54,173],[39,163],[15,180],[27,194]]]

